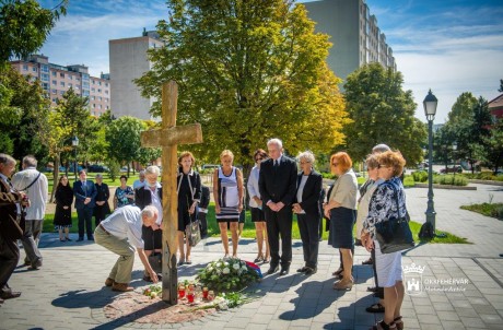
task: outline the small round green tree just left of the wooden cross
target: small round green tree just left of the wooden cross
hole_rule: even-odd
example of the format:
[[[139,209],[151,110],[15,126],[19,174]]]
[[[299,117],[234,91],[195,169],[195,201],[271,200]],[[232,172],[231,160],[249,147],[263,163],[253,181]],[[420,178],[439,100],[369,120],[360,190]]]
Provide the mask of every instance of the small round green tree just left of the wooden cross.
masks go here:
[[[140,151],[140,134],[145,130],[143,120],[124,116],[114,120],[106,129],[105,137],[109,143],[108,156],[120,164],[129,165],[138,158]]]

